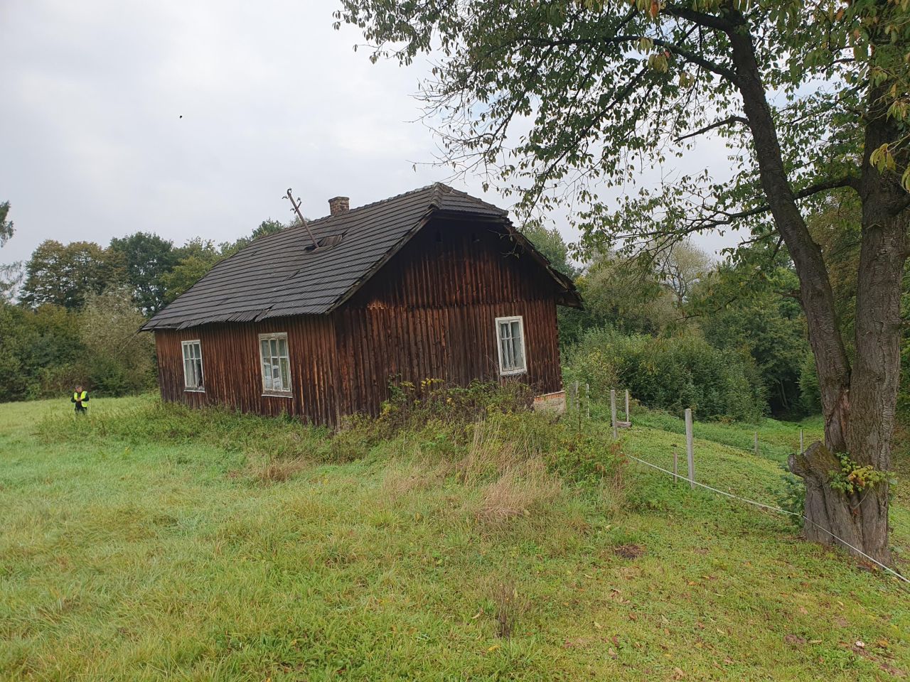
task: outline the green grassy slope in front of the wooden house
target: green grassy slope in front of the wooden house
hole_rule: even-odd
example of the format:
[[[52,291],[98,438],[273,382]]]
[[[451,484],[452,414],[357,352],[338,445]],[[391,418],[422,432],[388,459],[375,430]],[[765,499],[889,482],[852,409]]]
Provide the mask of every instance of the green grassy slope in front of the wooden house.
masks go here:
[[[92,407],[103,418],[142,400]],[[910,671],[910,597],[893,581],[800,542],[779,517],[639,465],[627,470],[620,512],[570,490],[545,514],[488,527],[472,511],[477,490],[399,455],[400,444],[265,486],[234,448],[43,444],[39,417],[67,409],[0,406],[0,677],[858,680]],[[672,461],[682,445],[672,420],[639,421],[649,426],[624,436],[626,450]],[[794,433],[773,422],[762,431],[780,446]],[[751,445],[750,428],[696,433]],[[713,440],[696,447],[705,482],[764,500],[779,488],[770,449],[755,458]],[[895,540],[908,547],[902,502]],[[642,556],[616,553],[628,545]],[[503,609],[515,614],[508,639],[497,636]]]

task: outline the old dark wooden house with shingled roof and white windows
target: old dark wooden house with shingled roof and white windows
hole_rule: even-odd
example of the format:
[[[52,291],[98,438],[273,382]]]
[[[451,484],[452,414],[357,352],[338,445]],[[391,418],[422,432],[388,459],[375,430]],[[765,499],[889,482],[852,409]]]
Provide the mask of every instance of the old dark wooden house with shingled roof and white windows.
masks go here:
[[[561,395],[556,306],[581,302],[506,211],[440,184],[329,208],[221,261],[147,322],[163,399],[335,425],[377,414],[395,381]]]

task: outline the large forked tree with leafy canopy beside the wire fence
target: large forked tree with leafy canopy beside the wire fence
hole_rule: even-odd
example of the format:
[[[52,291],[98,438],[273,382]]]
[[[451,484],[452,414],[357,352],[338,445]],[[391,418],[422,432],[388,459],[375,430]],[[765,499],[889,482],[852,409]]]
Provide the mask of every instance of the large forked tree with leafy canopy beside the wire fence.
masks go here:
[[[905,2],[342,0],[337,18],[363,29],[374,59],[432,53],[422,92],[447,160],[480,166],[524,208],[568,193],[588,241],[660,250],[743,226],[783,243],[825,421],[826,446],[792,463],[806,483],[805,535],[891,560],[884,472],[910,221]],[[729,179],[677,174],[625,187],[619,210],[602,200],[705,133],[730,147]],[[805,220],[838,188],[862,206],[853,363]],[[844,486],[830,475],[842,466],[871,467],[875,483]]]

